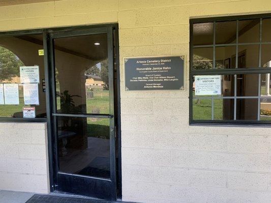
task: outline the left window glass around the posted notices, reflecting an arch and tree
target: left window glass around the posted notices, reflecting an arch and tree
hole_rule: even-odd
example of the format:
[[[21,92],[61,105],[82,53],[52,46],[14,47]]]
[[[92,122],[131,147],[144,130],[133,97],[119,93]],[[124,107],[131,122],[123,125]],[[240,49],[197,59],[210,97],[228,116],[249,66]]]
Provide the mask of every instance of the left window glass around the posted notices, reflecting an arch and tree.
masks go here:
[[[46,96],[43,91],[44,57],[39,55],[43,49],[42,35],[27,35],[0,38],[0,83],[18,84],[18,105],[0,105],[0,117],[23,118],[23,107],[35,107],[36,118],[46,117]],[[38,95],[39,105],[25,105],[23,84],[20,79],[20,66],[39,66]],[[15,98],[15,97],[14,97]],[[18,97],[17,97],[18,98]],[[26,103],[28,104],[28,103]]]

